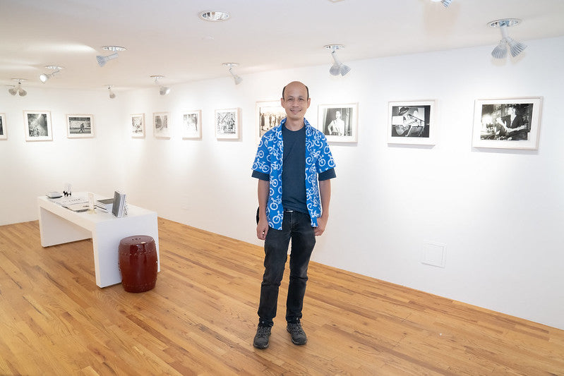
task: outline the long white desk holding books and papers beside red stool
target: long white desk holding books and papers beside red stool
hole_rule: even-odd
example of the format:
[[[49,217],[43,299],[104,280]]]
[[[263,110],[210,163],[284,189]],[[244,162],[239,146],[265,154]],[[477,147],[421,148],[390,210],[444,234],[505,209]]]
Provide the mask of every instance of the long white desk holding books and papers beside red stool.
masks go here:
[[[88,198],[88,193],[73,193],[73,197]],[[95,195],[95,200],[105,198]],[[127,205],[127,216],[116,218],[112,213],[95,210],[73,212],[49,200],[37,198],[41,245],[48,247],[92,238],[96,284],[100,287],[121,283],[119,272],[119,241],[128,236],[148,235],[157,246],[157,271],[160,272],[159,230],[157,213]]]

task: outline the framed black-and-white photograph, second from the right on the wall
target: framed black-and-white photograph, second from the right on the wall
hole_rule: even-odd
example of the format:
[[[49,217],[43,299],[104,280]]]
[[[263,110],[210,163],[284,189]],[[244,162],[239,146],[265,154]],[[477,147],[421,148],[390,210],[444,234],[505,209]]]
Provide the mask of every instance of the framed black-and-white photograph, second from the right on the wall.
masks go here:
[[[412,100],[388,103],[388,143],[435,145],[436,100]]]

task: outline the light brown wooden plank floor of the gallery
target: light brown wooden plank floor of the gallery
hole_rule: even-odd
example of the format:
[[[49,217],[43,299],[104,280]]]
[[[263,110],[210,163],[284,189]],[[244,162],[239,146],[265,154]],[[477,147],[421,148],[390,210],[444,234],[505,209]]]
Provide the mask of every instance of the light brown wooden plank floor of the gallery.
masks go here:
[[[91,241],[0,226],[0,375],[564,375],[564,331],[311,263],[294,346],[287,274],[253,348],[262,248],[159,219],[157,286],[95,284]]]

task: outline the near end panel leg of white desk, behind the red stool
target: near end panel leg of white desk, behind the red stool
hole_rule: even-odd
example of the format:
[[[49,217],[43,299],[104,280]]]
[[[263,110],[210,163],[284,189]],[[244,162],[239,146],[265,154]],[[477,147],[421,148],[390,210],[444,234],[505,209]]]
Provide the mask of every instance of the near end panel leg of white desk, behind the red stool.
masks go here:
[[[157,247],[157,270],[160,272],[159,230],[157,214],[140,217],[123,217],[101,222],[92,232],[96,284],[100,287],[121,283],[119,272],[119,241],[128,236],[148,235],[155,239]]]

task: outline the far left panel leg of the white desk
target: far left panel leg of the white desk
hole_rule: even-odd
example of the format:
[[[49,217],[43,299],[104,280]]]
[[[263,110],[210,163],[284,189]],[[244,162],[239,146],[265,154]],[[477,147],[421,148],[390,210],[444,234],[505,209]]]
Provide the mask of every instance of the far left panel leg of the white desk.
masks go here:
[[[39,229],[43,247],[92,238],[92,233],[87,229],[42,207],[39,208]]]

